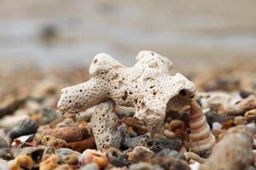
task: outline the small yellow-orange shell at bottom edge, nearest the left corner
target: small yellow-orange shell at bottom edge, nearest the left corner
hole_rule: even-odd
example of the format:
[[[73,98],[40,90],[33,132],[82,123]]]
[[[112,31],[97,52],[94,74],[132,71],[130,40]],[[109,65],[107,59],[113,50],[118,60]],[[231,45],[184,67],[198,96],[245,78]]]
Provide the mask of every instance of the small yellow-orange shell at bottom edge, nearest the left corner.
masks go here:
[[[32,169],[34,161],[30,156],[18,156],[14,161],[9,161],[10,170]]]

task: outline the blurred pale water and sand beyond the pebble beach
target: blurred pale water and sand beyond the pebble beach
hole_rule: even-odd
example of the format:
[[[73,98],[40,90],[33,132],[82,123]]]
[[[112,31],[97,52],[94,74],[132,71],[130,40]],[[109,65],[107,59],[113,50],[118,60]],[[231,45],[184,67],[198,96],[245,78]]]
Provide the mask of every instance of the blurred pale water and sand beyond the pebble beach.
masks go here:
[[[177,68],[256,60],[254,0],[1,0],[0,62],[90,65],[100,52],[133,65],[142,49]]]

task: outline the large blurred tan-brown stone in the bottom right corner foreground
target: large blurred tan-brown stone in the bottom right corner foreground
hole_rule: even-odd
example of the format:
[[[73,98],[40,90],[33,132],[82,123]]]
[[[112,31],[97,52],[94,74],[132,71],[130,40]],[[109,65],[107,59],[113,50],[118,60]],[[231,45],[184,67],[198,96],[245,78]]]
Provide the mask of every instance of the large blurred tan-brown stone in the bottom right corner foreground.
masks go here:
[[[253,163],[252,133],[246,126],[230,128],[215,147],[201,170],[241,170]]]

